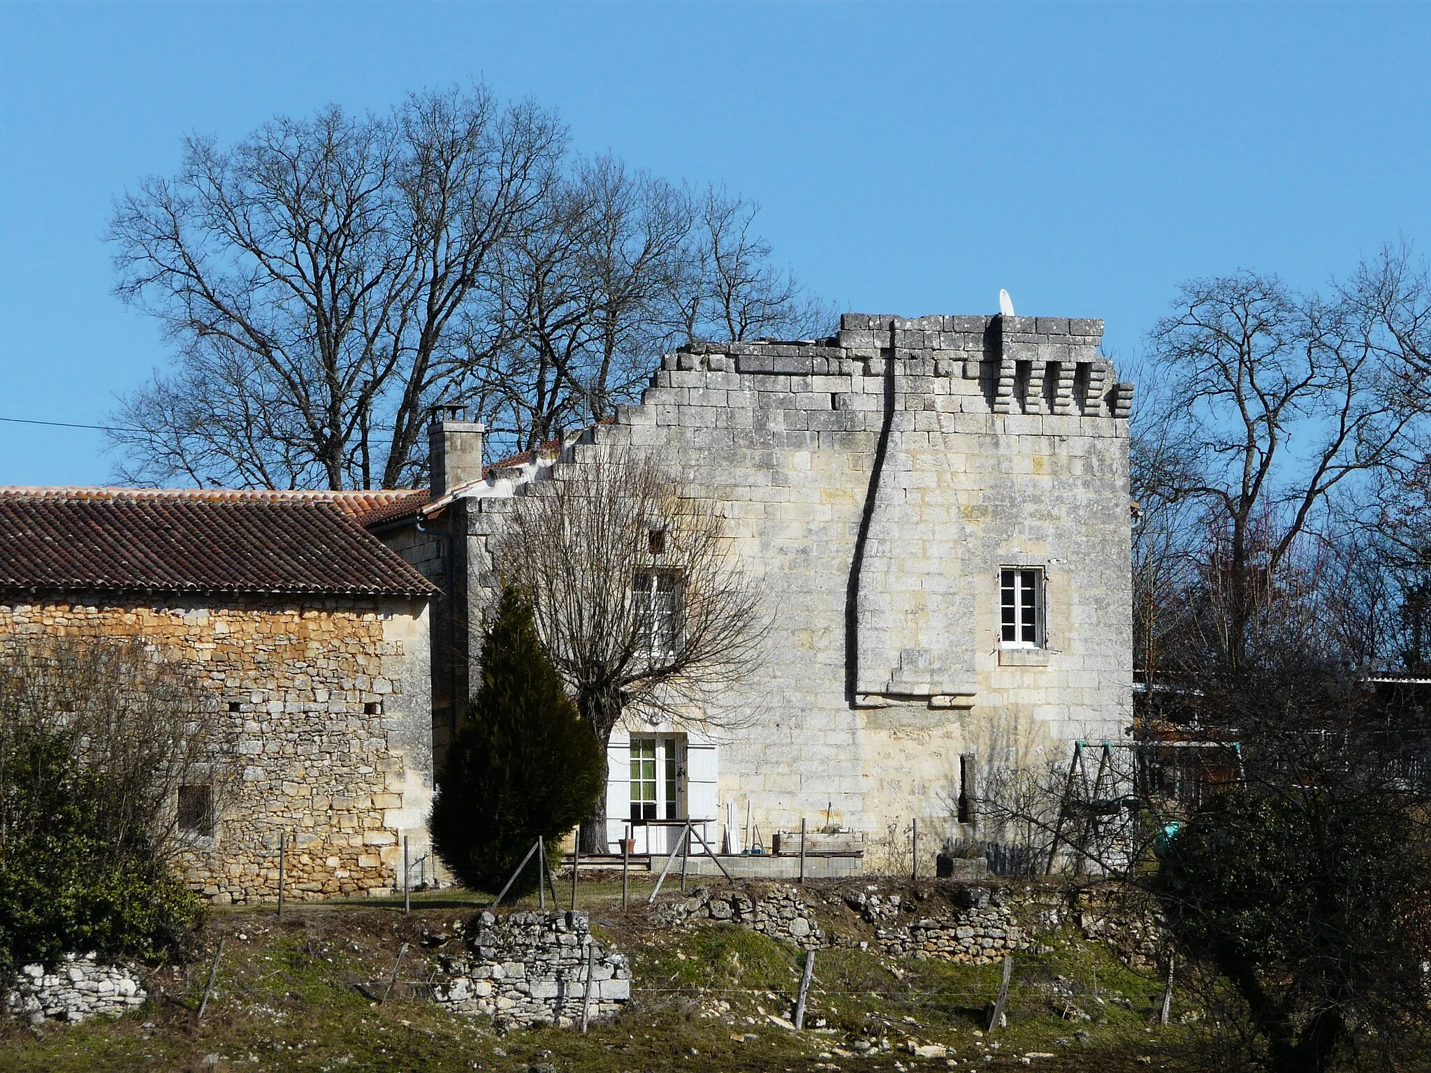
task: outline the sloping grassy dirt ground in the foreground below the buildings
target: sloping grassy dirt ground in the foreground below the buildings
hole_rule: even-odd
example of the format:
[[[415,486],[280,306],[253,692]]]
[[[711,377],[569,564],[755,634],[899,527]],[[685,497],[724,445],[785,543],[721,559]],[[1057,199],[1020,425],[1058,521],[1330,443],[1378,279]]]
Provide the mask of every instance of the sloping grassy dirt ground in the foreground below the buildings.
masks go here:
[[[431,1001],[438,951],[461,941],[458,924],[485,903],[434,891],[416,896],[411,914],[401,900],[290,904],[282,920],[273,906],[215,911],[206,950],[153,970],[150,999],[135,1013],[80,1026],[0,1026],[0,1072],[1229,1069],[1195,1026],[1158,1024],[1162,980],[1072,934],[1015,959],[1007,1026],[997,1033],[985,1032],[997,966],[896,961],[859,949],[819,951],[806,1029],[796,1032],[788,1017],[801,951],[731,924],[655,927],[644,914],[645,890],[633,884],[628,910],[620,881],[584,877],[578,890],[594,931],[625,951],[634,970],[625,1011],[585,1036],[555,1027],[501,1033]],[[834,886],[807,891],[827,931],[859,939],[866,926]],[[947,891],[926,884],[926,898],[942,897]],[[404,943],[409,951],[395,976]],[[1181,1003],[1175,1010],[1175,1021],[1196,1017]],[[927,1057],[932,1047],[943,1054]]]

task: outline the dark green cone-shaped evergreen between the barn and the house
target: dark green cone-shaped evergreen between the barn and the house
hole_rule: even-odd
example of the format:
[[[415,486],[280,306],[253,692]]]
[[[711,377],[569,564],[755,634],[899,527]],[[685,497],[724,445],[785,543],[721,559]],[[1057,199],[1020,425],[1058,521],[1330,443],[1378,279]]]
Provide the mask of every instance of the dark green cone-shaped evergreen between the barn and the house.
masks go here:
[[[448,748],[432,846],[471,890],[497,893],[537,838],[557,840],[605,788],[605,754],[551,665],[531,605],[502,591],[482,644],[482,685]],[[514,894],[537,888],[522,870]]]

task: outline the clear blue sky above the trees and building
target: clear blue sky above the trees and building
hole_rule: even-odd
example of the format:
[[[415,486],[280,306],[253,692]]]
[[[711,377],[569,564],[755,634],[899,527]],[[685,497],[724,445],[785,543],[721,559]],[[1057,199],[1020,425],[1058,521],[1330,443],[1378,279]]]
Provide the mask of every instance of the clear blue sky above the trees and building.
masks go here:
[[[1318,286],[1431,252],[1431,4],[4,3],[0,418],[102,423],[163,366],[110,295],[112,199],[180,137],[485,79],[578,146],[763,205],[861,312],[1102,316],[1179,280]],[[97,484],[99,432],[0,422],[0,484]]]

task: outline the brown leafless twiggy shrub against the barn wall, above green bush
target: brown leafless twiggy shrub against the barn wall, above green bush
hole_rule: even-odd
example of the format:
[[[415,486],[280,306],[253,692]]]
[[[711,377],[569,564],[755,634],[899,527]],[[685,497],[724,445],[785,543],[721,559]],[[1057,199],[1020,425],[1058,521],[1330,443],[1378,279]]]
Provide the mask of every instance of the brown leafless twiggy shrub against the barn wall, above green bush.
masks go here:
[[[0,785],[21,735],[54,734],[102,780],[116,843],[182,850],[180,787],[207,787],[209,808],[222,810],[235,774],[230,730],[192,672],[137,641],[20,638],[0,648]],[[0,840],[31,820],[4,808]]]

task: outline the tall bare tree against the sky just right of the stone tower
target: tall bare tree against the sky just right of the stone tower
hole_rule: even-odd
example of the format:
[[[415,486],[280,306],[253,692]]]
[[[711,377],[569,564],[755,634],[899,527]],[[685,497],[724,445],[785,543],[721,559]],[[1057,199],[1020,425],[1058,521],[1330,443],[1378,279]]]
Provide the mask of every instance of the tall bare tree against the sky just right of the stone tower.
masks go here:
[[[1158,495],[1198,506],[1191,532],[1215,547],[1205,565],[1225,601],[1209,637],[1232,665],[1296,542],[1329,532],[1334,495],[1412,442],[1418,408],[1398,386],[1401,358],[1361,300],[1372,283],[1324,300],[1246,272],[1196,280],[1153,329],[1162,405],[1149,416],[1169,446]]]

